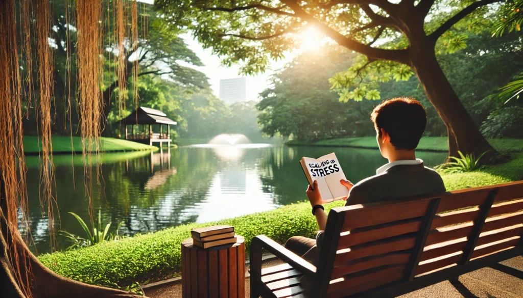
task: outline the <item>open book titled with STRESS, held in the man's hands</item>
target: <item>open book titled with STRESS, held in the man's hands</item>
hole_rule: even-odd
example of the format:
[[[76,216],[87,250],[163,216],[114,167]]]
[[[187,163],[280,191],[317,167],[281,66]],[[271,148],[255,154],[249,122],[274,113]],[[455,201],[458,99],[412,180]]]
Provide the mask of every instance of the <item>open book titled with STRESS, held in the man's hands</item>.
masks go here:
[[[347,187],[339,182],[346,178],[336,154],[327,154],[317,159],[303,157],[300,164],[311,187],[314,181],[318,182],[323,203],[347,197]]]

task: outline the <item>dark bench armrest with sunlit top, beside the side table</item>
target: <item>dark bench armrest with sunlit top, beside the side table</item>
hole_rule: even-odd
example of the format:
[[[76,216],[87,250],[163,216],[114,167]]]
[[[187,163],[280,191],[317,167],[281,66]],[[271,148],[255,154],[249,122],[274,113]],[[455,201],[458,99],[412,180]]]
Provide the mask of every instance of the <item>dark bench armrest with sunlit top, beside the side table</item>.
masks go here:
[[[295,269],[301,271],[303,274],[316,273],[316,266],[302,259],[297,254],[294,254],[293,252],[289,251],[289,249],[281,246],[280,244],[278,244],[277,242],[265,235],[259,235],[253,238],[253,241],[251,243],[251,264],[261,265],[260,248],[266,249],[271,254],[280,258],[282,261],[287,262]],[[259,270],[261,270],[261,267],[259,268]]]

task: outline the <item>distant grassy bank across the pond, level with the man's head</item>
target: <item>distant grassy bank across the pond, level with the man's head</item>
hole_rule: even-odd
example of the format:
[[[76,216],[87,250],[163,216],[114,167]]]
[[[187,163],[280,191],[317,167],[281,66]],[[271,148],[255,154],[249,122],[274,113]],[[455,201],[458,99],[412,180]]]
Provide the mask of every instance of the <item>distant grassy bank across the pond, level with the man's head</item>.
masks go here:
[[[523,139],[490,139],[488,140],[496,150],[521,151],[523,150]],[[289,146],[333,146],[333,147],[357,147],[378,148],[376,137],[339,138],[321,140],[315,142],[304,142],[291,140],[286,143]],[[423,137],[419,140],[417,150],[426,151],[448,151],[447,137]]]

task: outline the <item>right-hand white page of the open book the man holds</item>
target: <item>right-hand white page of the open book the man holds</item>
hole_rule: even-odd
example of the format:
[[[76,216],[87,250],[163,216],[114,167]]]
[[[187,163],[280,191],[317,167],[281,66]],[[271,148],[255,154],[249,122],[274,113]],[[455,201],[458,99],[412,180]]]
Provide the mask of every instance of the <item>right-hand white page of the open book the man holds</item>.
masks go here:
[[[323,174],[325,177],[325,182],[328,185],[329,190],[331,190],[332,197],[334,199],[347,197],[349,190],[343,184],[339,183],[340,180],[346,180],[346,178],[342,166],[336,158],[336,154],[327,154],[316,161],[322,165],[320,174]]]

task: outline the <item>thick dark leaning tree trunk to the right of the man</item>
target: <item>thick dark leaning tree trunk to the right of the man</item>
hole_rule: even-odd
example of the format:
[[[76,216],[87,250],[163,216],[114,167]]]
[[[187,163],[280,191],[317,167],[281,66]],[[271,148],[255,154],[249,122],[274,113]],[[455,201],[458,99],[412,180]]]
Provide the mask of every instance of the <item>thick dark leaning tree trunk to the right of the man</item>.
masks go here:
[[[449,156],[458,156],[458,150],[463,154],[474,153],[476,157],[485,151],[495,153],[447,80],[436,59],[434,47],[420,48],[423,50],[412,57],[412,68],[428,100],[447,126]]]

